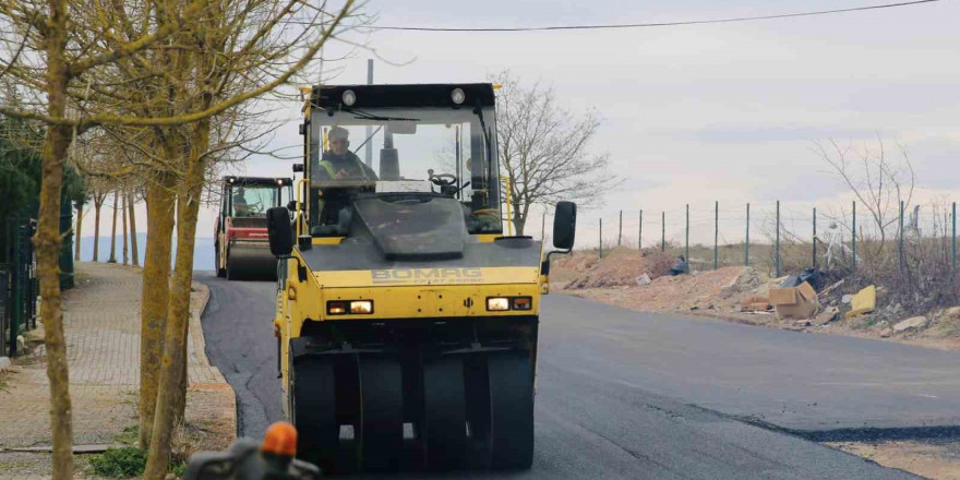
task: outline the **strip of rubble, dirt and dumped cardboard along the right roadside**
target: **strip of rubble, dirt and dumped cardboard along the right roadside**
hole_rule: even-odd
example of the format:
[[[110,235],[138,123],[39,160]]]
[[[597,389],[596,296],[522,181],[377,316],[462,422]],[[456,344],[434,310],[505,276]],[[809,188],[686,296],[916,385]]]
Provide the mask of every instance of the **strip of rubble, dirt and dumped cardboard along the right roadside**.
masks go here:
[[[861,288],[850,278],[808,268],[770,279],[753,267],[689,271],[659,251],[614,250],[599,259],[584,253],[557,257],[551,279],[593,300],[641,311],[687,311],[791,329],[827,328],[879,337],[960,337],[960,307],[910,314],[885,305],[883,287]],[[879,304],[878,304],[879,300]]]

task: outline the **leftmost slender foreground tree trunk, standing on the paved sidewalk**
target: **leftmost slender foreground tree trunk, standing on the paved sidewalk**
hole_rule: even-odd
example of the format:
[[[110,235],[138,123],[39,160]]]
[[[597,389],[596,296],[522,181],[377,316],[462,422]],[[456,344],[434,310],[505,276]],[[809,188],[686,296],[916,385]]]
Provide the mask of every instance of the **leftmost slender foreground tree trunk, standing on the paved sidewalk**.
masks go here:
[[[45,50],[47,60],[47,113],[63,118],[67,111],[69,72],[67,48],[67,0],[50,0],[46,21]],[[60,190],[63,187],[63,163],[72,139],[69,127],[48,125],[44,134],[40,212],[34,245],[37,252],[37,276],[43,296],[44,343],[47,355],[47,377],[50,381],[50,433],[53,440],[53,480],[73,477],[73,428],[70,405],[70,379],[67,343],[63,338],[63,312],[60,308]]]

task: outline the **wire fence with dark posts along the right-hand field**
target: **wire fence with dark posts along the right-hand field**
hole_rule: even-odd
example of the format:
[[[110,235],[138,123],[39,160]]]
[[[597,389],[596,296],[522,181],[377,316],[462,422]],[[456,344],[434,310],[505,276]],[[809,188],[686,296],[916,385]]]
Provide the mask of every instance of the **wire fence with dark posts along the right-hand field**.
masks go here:
[[[957,203],[891,205],[715,202],[670,211],[622,211],[615,217],[584,212],[577,244],[601,255],[614,248],[657,249],[683,255],[692,268],[701,271],[752,265],[779,277],[805,267],[936,267],[938,275],[956,279]]]

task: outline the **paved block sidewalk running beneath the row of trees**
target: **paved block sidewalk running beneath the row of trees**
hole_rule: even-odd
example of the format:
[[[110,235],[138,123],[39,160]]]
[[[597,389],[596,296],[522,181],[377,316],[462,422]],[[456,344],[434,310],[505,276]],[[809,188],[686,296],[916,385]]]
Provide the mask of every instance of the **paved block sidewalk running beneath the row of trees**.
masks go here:
[[[77,263],[74,290],[64,293],[75,445],[115,444],[137,423],[140,382],[140,268]],[[204,353],[200,314],[209,291],[194,284],[188,336],[187,421],[208,431],[204,446],[221,447],[236,431],[233,391]],[[43,332],[32,335],[43,338]],[[49,454],[10,452],[50,445],[49,382],[43,343],[0,377],[0,480],[49,478]],[[83,456],[77,467],[84,465]],[[82,469],[77,470],[82,476]]]

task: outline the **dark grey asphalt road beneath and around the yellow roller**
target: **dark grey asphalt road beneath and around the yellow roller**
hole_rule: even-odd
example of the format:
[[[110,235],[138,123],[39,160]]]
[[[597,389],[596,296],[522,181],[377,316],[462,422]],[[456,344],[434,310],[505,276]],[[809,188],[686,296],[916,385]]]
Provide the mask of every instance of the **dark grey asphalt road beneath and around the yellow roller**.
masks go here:
[[[261,435],[283,417],[274,284],[197,277],[207,355],[237,391],[241,434]],[[540,335],[533,468],[443,478],[905,479],[809,439],[960,437],[958,353],[561,295]]]

